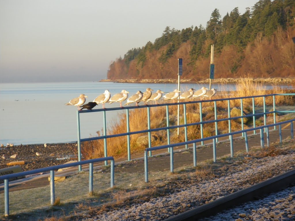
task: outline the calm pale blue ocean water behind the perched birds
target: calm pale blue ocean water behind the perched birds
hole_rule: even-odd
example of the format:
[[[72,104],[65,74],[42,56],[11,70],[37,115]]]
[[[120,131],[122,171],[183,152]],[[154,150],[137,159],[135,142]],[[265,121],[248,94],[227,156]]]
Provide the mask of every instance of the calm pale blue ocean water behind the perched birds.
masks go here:
[[[181,91],[198,90],[209,85],[181,84]],[[86,103],[93,101],[108,89],[111,95],[129,91],[129,96],[137,90],[160,89],[165,93],[177,88],[177,84],[132,84],[112,82],[68,82],[68,83],[2,83],[0,84],[0,143],[44,144],[77,141],[77,107],[66,106],[72,98],[81,93],[88,96]],[[269,87],[269,86],[268,86]],[[288,87],[288,86],[283,86]],[[235,85],[217,90],[235,90]],[[124,104],[124,102],[123,102]],[[118,107],[119,103],[106,104]],[[95,108],[101,108],[101,105]],[[106,112],[107,126],[124,110]],[[96,136],[103,127],[102,112],[81,114],[81,138]]]

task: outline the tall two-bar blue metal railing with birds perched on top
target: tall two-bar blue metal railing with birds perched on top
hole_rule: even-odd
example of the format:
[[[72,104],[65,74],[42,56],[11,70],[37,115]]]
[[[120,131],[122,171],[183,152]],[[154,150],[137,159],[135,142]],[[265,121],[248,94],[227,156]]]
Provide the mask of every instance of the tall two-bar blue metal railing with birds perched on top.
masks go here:
[[[92,141],[92,140],[98,140],[98,139],[104,139],[104,156],[107,156],[107,144],[106,144],[106,139],[107,138],[112,138],[112,137],[119,137],[119,136],[127,136],[127,154],[128,154],[128,160],[131,160],[131,155],[130,155],[130,135],[132,134],[139,134],[139,133],[148,133],[148,146],[149,148],[151,147],[151,132],[153,131],[161,131],[161,130],[167,130],[167,144],[170,144],[170,129],[173,128],[182,128],[184,127],[184,136],[185,136],[185,141],[187,141],[187,127],[188,126],[193,126],[193,125],[200,125],[200,136],[201,138],[204,138],[203,134],[203,125],[206,123],[215,123],[215,134],[218,135],[218,127],[217,127],[217,122],[219,121],[228,121],[229,124],[229,132],[231,132],[231,120],[233,119],[238,119],[239,117],[230,117],[230,100],[240,100],[241,103],[241,117],[240,118],[245,118],[245,117],[251,117],[253,118],[253,128],[256,127],[256,116],[263,115],[264,116],[264,125],[266,125],[266,115],[273,113],[273,123],[275,125],[276,123],[276,108],[275,108],[275,96],[278,95],[295,95],[295,93],[290,93],[290,94],[269,94],[269,95],[255,95],[255,96],[246,96],[246,97],[239,97],[239,98],[221,98],[221,99],[212,99],[212,100],[197,100],[197,101],[187,101],[187,102],[179,102],[179,103],[164,103],[164,104],[154,104],[154,105],[140,105],[140,106],[130,106],[130,107],[118,107],[118,108],[104,108],[104,109],[95,109],[95,110],[80,110],[77,111],[77,121],[78,121],[78,160],[81,160],[81,146],[80,143],[81,141]],[[273,97],[273,111],[266,112],[266,97]],[[250,115],[243,116],[243,99],[252,99],[252,107],[253,107],[253,113]],[[255,98],[263,98],[263,113],[256,113],[255,110]],[[206,102],[214,102],[214,121],[203,121],[203,114],[202,114],[202,103]],[[228,118],[223,118],[223,119],[217,119],[217,106],[216,102],[218,101],[227,101],[228,102]],[[197,123],[186,123],[186,105],[187,104],[194,104],[194,103],[199,103],[199,109],[200,109],[200,122]],[[169,112],[168,112],[168,107],[173,106],[173,105],[183,105],[183,111],[184,111],[184,124],[178,125],[178,126],[170,126],[169,125]],[[150,108],[153,107],[161,107],[165,106],[166,107],[166,118],[167,118],[167,126],[166,127],[161,127],[161,128],[150,128]],[[142,131],[132,131],[130,132],[129,128],[129,110],[130,109],[136,109],[136,108],[147,108],[147,115],[148,115],[148,128],[147,130],[142,130]],[[106,111],[112,111],[112,110],[122,110],[126,109],[126,119],[127,119],[127,132],[126,133],[120,133],[120,134],[111,134],[111,135],[106,135]],[[92,137],[92,138],[80,138],[80,127],[79,127],[79,114],[81,113],[94,113],[94,112],[100,112],[103,111],[104,113],[104,134],[103,136],[98,136],[98,137]],[[244,129],[244,123],[243,121],[241,122],[241,127],[242,130]],[[274,126],[274,129],[276,129],[276,125]],[[266,129],[265,129],[266,130]],[[256,130],[253,130],[253,133],[256,134]],[[245,136],[245,134],[242,134],[242,136]],[[232,149],[232,136],[229,135],[230,143],[231,143],[231,149]],[[218,136],[216,137],[216,142],[218,142]],[[204,140],[201,140],[201,145],[204,145]],[[186,146],[187,148],[187,146]],[[170,152],[170,148],[168,148],[168,152]],[[150,156],[151,156],[151,152]],[[107,161],[105,161],[105,165],[107,165]],[[79,168],[80,170],[81,168]]]

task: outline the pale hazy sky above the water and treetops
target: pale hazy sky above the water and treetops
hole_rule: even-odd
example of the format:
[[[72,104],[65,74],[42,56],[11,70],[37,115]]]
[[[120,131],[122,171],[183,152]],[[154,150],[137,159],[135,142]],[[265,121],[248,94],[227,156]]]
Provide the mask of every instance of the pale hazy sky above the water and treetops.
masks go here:
[[[258,0],[0,0],[0,83],[97,81],[165,27],[206,27]]]

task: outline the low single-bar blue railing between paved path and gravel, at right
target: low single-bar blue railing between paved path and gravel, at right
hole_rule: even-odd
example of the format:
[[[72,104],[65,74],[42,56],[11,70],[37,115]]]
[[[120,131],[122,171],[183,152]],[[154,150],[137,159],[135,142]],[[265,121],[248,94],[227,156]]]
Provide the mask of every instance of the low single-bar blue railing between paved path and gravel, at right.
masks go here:
[[[240,134],[240,133],[244,133],[245,138],[246,138],[248,131],[260,130],[260,145],[263,148],[264,147],[263,129],[266,128],[266,131],[267,131],[267,146],[269,147],[268,128],[273,127],[273,126],[279,126],[279,128],[281,128],[282,124],[291,123],[291,138],[293,138],[294,137],[294,135],[293,135],[293,122],[294,121],[295,121],[295,119],[291,119],[291,120],[288,120],[288,121],[282,121],[282,122],[275,123],[275,124],[259,126],[259,127],[256,127],[256,128],[250,128],[250,129],[245,129],[245,130],[241,130],[241,131],[235,131],[235,132],[231,132],[231,133],[224,133],[224,134],[219,134],[219,135],[215,135],[215,136],[195,139],[195,140],[176,143],[176,144],[170,144],[170,145],[163,145],[163,146],[156,146],[156,147],[146,148],[144,150],[145,182],[148,182],[148,155],[147,155],[147,151],[154,151],[154,150],[160,150],[160,149],[165,149],[165,148],[173,148],[173,147],[176,147],[176,146],[184,146],[184,145],[188,145],[188,144],[193,144],[193,163],[194,163],[194,166],[196,166],[196,143],[200,142],[200,141],[212,140],[212,143],[213,143],[213,162],[215,163],[216,159],[217,159],[217,156],[216,156],[216,138],[225,137],[225,136],[231,136],[232,137],[233,135]],[[279,130],[279,139],[280,139],[280,143],[282,143],[281,129]],[[249,152],[248,139],[245,139],[245,146],[246,146],[246,151]],[[232,155],[233,155],[233,146],[231,146],[231,156]],[[173,151],[171,151],[170,156],[171,156],[170,157],[170,172],[173,173],[174,172],[173,171]]]

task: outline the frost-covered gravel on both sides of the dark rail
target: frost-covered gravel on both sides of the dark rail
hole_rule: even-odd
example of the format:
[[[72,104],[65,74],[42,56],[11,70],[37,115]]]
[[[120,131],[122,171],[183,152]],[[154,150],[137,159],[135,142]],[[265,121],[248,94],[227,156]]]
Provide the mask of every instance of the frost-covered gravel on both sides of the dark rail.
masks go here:
[[[239,157],[237,161],[214,169],[214,174],[198,176],[194,172],[166,180],[165,185],[159,187],[160,196],[126,200],[116,207],[106,206],[102,212],[77,216],[75,220],[165,220],[294,169],[295,151],[293,147],[276,156],[240,154]],[[292,187],[202,220],[295,220],[294,207],[295,189]]]

